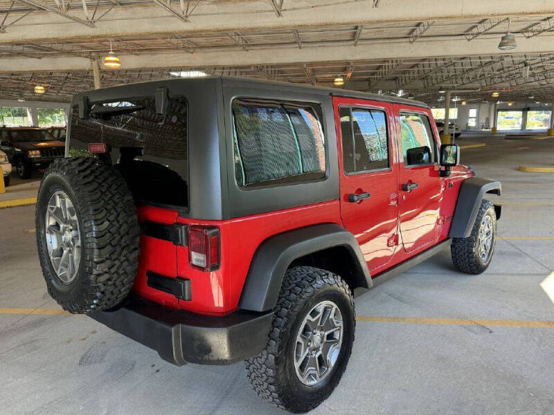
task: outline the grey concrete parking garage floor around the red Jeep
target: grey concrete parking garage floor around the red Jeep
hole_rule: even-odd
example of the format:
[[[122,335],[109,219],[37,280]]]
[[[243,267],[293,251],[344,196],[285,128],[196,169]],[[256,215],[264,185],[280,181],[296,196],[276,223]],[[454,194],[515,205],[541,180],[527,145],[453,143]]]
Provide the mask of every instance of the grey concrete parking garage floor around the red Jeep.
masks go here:
[[[456,273],[449,252],[356,301],[357,314],[554,320],[554,139],[466,134],[462,161],[503,181],[502,237],[483,275]],[[34,207],[0,210],[0,414],[284,414],[251,391],[241,363],[174,367],[84,316],[57,309],[35,254]],[[549,238],[549,239],[548,239]],[[553,274],[554,278],[554,274]],[[25,311],[24,311],[25,312]],[[442,320],[440,320],[442,321]],[[554,327],[363,322],[346,374],[313,414],[553,414]]]

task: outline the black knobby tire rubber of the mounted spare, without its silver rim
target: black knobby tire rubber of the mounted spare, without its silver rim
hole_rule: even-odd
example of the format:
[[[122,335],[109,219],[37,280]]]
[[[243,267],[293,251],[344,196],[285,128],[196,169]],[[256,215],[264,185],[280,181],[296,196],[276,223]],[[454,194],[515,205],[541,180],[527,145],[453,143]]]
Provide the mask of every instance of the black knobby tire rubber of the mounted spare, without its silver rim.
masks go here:
[[[80,221],[81,259],[69,285],[57,279],[44,236],[48,200],[60,189],[70,196]],[[139,261],[140,230],[132,194],[115,167],[95,158],[55,160],[39,187],[35,219],[48,293],[64,310],[105,310],[127,297]]]

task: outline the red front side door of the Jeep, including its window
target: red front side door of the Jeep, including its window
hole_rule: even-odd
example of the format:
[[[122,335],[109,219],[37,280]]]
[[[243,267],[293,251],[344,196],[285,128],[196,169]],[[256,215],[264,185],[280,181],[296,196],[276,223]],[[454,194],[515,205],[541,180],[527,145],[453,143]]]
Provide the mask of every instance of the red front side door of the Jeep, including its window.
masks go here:
[[[400,234],[406,252],[438,239],[443,197],[438,148],[429,110],[395,104],[400,155]]]

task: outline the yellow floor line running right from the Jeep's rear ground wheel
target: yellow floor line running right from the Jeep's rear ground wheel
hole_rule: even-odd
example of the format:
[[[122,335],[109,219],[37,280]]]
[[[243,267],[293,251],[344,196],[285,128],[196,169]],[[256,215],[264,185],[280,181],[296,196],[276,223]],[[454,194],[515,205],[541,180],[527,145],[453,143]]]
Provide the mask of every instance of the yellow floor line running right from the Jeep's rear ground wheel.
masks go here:
[[[359,322],[370,322],[370,323],[554,328],[554,321],[542,321],[542,320],[483,320],[483,319],[433,318],[433,317],[385,317],[380,315],[358,315],[356,317],[356,320]]]

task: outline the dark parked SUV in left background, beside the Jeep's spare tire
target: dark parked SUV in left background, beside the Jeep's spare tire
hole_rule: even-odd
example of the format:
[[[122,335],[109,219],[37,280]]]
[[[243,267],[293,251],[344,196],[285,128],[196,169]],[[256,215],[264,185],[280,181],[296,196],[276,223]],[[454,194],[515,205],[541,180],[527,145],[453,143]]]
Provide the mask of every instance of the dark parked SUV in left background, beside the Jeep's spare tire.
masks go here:
[[[64,156],[65,144],[46,129],[38,127],[0,127],[0,150],[8,155],[17,176],[29,178],[33,169],[47,167]]]

